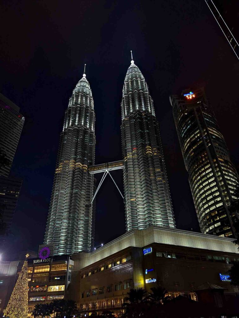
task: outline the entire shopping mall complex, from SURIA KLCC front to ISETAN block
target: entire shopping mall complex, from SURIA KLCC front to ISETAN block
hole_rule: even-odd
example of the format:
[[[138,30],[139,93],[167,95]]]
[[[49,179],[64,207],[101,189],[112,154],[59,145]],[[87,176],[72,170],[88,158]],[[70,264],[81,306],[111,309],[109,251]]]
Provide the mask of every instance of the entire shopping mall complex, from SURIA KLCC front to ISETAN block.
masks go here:
[[[230,284],[227,272],[239,254],[232,242],[151,226],[129,231],[91,253],[28,259],[29,316],[36,304],[56,299],[76,301],[80,317],[104,310],[120,316],[130,288],[149,292],[156,286],[166,288],[172,298],[183,295],[233,308],[239,303],[238,289]],[[22,264],[0,264],[2,315]]]

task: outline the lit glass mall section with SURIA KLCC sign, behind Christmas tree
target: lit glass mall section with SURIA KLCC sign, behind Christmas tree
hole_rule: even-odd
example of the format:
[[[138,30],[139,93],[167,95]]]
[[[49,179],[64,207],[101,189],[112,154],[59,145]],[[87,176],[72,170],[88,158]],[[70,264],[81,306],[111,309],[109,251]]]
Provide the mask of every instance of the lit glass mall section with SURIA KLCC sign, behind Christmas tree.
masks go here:
[[[0,262],[0,317],[3,316],[24,261]],[[28,259],[28,312],[36,304],[64,299],[74,261],[69,255]]]

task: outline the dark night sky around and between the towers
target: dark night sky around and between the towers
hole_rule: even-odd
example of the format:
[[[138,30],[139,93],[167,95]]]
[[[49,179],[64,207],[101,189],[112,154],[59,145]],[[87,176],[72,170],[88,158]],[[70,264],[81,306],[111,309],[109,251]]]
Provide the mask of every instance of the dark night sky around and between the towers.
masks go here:
[[[3,1],[0,91],[25,116],[12,174],[23,179],[3,257],[42,243],[63,116],[86,66],[96,163],[122,159],[123,80],[130,50],[154,99],[177,228],[199,231],[169,95],[205,86],[238,168],[239,62],[204,0]],[[114,171],[123,190],[122,171]],[[97,175],[97,180],[100,175]],[[125,232],[108,176],[96,198],[96,245]]]

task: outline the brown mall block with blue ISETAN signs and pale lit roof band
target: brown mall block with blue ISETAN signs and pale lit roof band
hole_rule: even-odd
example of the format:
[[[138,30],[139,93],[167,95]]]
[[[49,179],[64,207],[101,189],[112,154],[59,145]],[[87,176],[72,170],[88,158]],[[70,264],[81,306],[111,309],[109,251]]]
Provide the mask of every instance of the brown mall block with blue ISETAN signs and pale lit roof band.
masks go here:
[[[91,253],[72,255],[66,297],[80,316],[104,310],[120,315],[130,288],[162,286],[172,298],[223,307],[238,301],[227,272],[239,254],[232,239],[151,226],[132,230]]]

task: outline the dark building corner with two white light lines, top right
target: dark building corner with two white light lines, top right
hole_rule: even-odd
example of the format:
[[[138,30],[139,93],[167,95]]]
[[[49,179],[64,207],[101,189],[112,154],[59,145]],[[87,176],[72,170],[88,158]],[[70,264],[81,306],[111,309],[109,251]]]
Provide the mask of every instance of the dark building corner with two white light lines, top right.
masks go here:
[[[238,0],[205,0],[229,45],[239,59]]]

